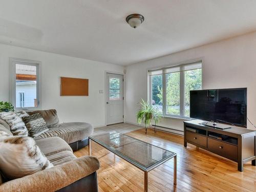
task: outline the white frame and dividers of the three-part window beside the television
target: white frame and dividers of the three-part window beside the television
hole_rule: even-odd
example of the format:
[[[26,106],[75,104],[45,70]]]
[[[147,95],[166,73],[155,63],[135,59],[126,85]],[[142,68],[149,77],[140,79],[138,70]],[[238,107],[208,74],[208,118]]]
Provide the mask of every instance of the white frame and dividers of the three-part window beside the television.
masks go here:
[[[172,118],[181,118],[181,119],[190,119],[189,116],[185,116],[185,66],[193,65],[193,63],[199,63],[201,62],[201,70],[202,70],[202,81],[201,81],[201,87],[203,88],[203,59],[193,60],[189,62],[183,62],[179,63],[178,65],[158,68],[158,69],[152,69],[148,70],[147,75],[149,77],[149,91],[148,91],[148,98],[150,98],[150,103],[152,104],[152,77],[150,75],[150,72],[152,71],[161,71],[162,70],[162,97],[163,97],[163,105],[162,105],[162,116],[163,117],[172,117]],[[166,113],[166,70],[170,68],[180,68],[180,115],[170,115]],[[193,69],[191,69],[193,70]],[[190,70],[187,70],[190,71]],[[160,74],[159,74],[160,75]]]

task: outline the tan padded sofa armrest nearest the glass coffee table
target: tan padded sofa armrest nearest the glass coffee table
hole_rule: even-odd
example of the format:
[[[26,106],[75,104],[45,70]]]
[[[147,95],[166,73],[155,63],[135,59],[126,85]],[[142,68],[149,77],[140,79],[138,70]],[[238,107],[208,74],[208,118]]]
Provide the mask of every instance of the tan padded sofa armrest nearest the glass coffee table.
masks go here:
[[[57,165],[32,175],[14,179],[0,185],[0,191],[56,191],[99,169],[93,156],[83,156],[66,164]]]

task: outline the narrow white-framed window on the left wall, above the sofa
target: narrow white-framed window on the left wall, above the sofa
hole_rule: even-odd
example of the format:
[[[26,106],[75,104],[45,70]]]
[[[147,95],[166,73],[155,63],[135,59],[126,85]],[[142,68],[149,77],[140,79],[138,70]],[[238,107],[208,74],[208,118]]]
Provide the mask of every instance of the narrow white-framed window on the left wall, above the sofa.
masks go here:
[[[39,108],[39,62],[11,59],[11,99],[15,109]]]

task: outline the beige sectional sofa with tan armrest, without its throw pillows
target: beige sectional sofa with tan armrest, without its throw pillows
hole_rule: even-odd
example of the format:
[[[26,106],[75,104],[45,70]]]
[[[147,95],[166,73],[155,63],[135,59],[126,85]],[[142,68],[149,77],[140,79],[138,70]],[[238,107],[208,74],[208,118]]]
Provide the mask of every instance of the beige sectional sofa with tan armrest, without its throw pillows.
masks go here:
[[[40,113],[52,114],[56,111]],[[2,119],[0,131],[12,135],[9,125]],[[0,191],[98,191],[98,159],[93,156],[76,158],[71,148],[72,143],[78,146],[79,141],[87,139],[92,133],[93,128],[88,123],[55,124],[44,136],[35,138],[41,152],[54,167],[10,181],[0,175]]]

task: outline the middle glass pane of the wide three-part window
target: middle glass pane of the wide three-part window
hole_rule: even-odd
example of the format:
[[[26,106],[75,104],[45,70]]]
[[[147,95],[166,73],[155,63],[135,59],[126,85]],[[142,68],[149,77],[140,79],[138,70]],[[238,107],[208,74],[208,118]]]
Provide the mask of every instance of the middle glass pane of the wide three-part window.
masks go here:
[[[166,74],[166,114],[180,115],[180,72]]]

